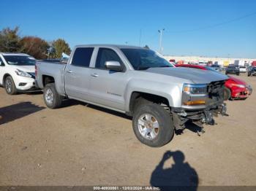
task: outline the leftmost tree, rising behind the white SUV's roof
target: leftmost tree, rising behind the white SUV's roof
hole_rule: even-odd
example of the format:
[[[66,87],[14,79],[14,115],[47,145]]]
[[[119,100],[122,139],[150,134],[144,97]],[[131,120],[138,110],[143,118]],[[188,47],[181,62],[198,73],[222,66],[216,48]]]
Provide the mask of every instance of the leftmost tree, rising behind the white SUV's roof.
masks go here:
[[[18,52],[20,49],[19,28],[4,28],[0,31],[0,52]]]

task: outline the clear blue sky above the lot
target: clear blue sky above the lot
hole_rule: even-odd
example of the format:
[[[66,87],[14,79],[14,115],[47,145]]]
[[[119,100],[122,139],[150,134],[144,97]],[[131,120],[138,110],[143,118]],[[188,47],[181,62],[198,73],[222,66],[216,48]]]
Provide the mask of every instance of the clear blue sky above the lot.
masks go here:
[[[0,30],[76,44],[129,44],[164,55],[256,58],[255,0],[0,0]]]

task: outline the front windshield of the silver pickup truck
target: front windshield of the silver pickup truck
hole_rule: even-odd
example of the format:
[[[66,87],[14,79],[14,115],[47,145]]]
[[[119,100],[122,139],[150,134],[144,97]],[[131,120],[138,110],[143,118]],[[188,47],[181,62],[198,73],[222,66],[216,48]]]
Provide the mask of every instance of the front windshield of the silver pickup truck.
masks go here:
[[[161,58],[157,52],[144,49],[121,49],[135,70],[146,70],[158,67],[173,67],[171,63]]]

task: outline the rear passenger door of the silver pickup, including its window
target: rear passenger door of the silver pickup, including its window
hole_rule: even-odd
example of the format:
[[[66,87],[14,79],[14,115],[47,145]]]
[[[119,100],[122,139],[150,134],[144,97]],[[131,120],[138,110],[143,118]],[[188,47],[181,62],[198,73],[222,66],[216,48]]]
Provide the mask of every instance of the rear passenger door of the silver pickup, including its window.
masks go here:
[[[78,47],[67,64],[64,79],[65,90],[70,98],[86,101],[89,97],[89,77],[93,47]]]

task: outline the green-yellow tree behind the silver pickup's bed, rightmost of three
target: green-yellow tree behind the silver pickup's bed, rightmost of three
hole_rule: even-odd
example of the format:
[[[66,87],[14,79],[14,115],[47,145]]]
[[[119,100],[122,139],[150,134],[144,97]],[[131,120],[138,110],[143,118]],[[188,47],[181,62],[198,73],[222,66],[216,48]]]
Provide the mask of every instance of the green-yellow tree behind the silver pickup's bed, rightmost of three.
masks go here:
[[[52,44],[53,50],[51,56],[53,58],[61,58],[62,52],[69,55],[71,50],[69,48],[69,44],[64,39],[57,39],[56,41],[53,41]]]

